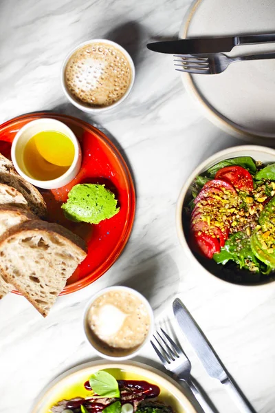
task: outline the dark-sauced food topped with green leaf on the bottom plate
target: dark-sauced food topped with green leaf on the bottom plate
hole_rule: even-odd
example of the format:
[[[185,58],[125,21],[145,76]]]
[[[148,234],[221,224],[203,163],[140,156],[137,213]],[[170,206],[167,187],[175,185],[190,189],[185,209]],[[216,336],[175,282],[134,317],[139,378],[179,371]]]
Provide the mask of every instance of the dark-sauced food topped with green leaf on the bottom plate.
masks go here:
[[[51,413],[173,413],[170,406],[157,400],[159,388],[147,381],[116,380],[100,370],[84,383],[91,394],[86,398],[61,400]]]

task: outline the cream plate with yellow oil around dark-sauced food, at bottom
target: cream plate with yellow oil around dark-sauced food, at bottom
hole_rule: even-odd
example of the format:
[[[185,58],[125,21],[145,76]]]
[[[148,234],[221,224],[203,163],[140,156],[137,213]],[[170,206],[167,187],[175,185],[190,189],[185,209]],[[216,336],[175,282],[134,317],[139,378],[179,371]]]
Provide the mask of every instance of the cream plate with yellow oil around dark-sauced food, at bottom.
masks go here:
[[[175,413],[196,413],[184,394],[183,388],[175,381],[155,368],[133,361],[130,363],[94,361],[69,370],[50,384],[45,393],[39,398],[32,413],[49,413],[50,407],[58,401],[72,399],[76,396],[88,396],[90,392],[85,390],[83,384],[91,374],[103,369],[113,374],[116,379],[145,380],[156,384],[161,390],[159,400],[172,406]]]

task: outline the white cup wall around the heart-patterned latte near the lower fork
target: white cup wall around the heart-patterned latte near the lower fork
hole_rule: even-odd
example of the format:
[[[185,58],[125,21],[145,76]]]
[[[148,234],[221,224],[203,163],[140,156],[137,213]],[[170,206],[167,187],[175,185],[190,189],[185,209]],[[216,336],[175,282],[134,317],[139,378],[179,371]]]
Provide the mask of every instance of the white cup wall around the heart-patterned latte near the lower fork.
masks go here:
[[[98,346],[96,346],[96,343],[92,339],[91,329],[89,328],[88,315],[89,315],[89,309],[91,308],[91,304],[93,304],[93,302],[98,297],[100,297],[101,295],[103,295],[105,293],[109,293],[109,291],[125,291],[125,292],[128,292],[131,295],[134,295],[135,297],[139,298],[140,301],[142,301],[142,303],[146,306],[146,309],[148,311],[148,315],[150,317],[150,326],[149,326],[148,333],[147,333],[144,341],[142,341],[142,343],[140,344],[140,346],[137,349],[135,349],[133,352],[129,352],[129,353],[125,354],[124,356],[111,356],[111,355],[105,354],[103,351],[101,351],[100,348]],[[133,290],[133,288],[124,287],[124,286],[113,286],[113,287],[104,288],[103,290],[100,290],[98,293],[96,293],[89,300],[89,303],[87,304],[87,306],[85,308],[85,313],[84,313],[85,335],[87,337],[87,340],[91,344],[91,346],[94,348],[94,351],[100,357],[103,357],[104,359],[115,360],[115,361],[118,361],[118,360],[122,361],[122,360],[132,359],[133,357],[135,357],[137,354],[139,354],[141,352],[142,348],[144,348],[146,343],[148,343],[148,341],[151,339],[151,336],[153,335],[153,327],[154,327],[154,315],[153,315],[153,310],[152,310],[150,304],[148,303],[148,301],[146,300],[146,298],[142,294],[138,293],[136,290]]]

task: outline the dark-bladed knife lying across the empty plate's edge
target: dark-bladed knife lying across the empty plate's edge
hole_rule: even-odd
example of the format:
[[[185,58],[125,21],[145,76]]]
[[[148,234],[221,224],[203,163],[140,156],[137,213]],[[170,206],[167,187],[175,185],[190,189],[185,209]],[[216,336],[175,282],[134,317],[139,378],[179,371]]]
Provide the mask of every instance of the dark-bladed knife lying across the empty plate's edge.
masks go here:
[[[199,39],[183,39],[157,41],[148,43],[153,52],[170,54],[203,54],[230,52],[234,46],[275,42],[275,33],[251,34],[249,36],[201,37]]]

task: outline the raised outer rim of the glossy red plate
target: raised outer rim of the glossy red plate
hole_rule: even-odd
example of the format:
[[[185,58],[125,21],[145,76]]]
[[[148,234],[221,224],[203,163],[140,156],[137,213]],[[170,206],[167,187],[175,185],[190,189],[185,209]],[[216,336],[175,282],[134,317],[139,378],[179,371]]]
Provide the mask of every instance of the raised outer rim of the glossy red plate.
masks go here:
[[[12,118],[10,120],[7,120],[6,122],[2,123],[0,125],[0,136],[5,132],[6,129],[9,129],[13,125],[16,126],[17,123],[24,121],[24,120],[34,120],[36,118],[57,118],[58,120],[71,120],[74,121],[78,126],[80,127],[85,127],[92,131],[94,134],[98,135],[100,139],[104,140],[109,147],[111,147],[111,150],[113,151],[114,156],[119,160],[120,165],[122,165],[122,168],[124,169],[125,177],[126,180],[129,184],[129,191],[128,191],[128,196],[129,196],[129,216],[128,216],[128,224],[125,229],[124,236],[122,240],[120,241],[120,246],[119,248],[115,248],[115,253],[111,253],[109,257],[109,262],[106,268],[104,268],[104,271],[99,271],[99,273],[96,275],[96,278],[94,278],[91,281],[91,275],[92,273],[87,274],[87,276],[83,279],[80,279],[72,284],[69,284],[69,286],[65,286],[59,296],[61,295],[68,295],[75,293],[76,291],[81,290],[82,288],[85,288],[95,282],[97,279],[102,277],[104,273],[107,273],[111,266],[118,260],[118,257],[122,254],[124,251],[124,248],[129,240],[129,237],[131,235],[132,229],[133,229],[133,223],[135,220],[135,207],[136,207],[136,200],[135,200],[135,185],[133,183],[133,178],[131,176],[131,171],[129,170],[128,165],[126,164],[126,161],[124,160],[122,154],[118,150],[118,148],[114,145],[113,142],[104,134],[103,131],[95,127],[94,125],[91,125],[90,123],[86,122],[85,120],[82,120],[80,118],[76,118],[74,116],[66,115],[66,114],[58,114],[56,112],[32,112],[30,114],[23,114],[20,116],[16,116],[15,118]],[[103,265],[103,264],[102,264]],[[101,268],[101,266],[99,267]],[[98,270],[97,270],[98,271]],[[13,290],[12,293],[21,295],[18,291]]]

